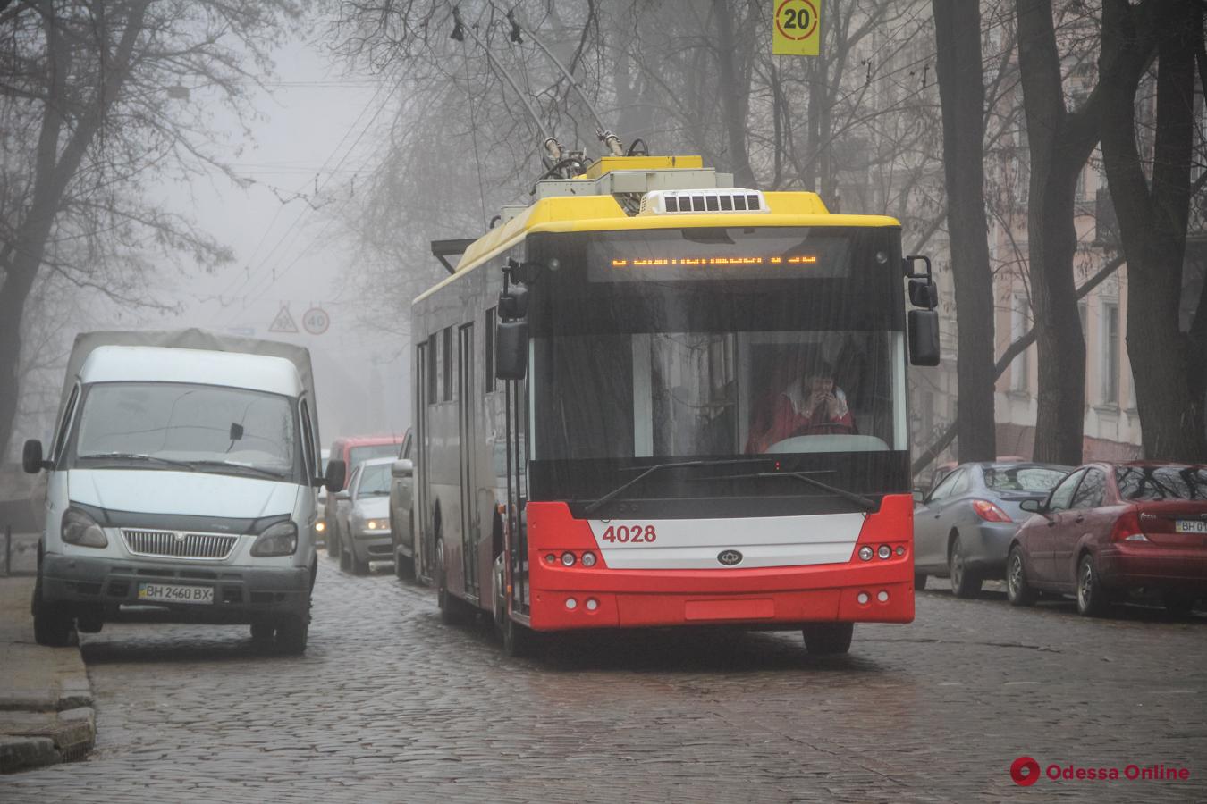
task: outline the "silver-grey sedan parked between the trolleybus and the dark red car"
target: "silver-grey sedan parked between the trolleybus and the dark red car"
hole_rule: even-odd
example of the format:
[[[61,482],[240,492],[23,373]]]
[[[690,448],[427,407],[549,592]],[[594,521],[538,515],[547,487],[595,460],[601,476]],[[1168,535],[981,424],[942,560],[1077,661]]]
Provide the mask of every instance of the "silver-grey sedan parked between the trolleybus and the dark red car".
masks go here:
[[[1019,524],[1019,505],[1043,500],[1068,466],[1042,463],[966,463],[956,466],[914,510],[914,586],[928,575],[951,579],[960,598],[1002,577]]]

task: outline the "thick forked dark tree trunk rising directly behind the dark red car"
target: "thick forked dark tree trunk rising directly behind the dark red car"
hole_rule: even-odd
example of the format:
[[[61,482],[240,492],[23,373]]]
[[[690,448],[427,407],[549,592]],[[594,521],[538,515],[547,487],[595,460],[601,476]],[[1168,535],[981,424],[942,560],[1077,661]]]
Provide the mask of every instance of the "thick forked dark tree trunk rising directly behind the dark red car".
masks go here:
[[[1102,149],[1127,258],[1127,352],[1144,457],[1161,460],[1207,459],[1202,399],[1194,388],[1203,356],[1180,327],[1202,14],[1193,0],[1155,6],[1149,0],[1139,8],[1113,0],[1103,19],[1103,81],[1112,89],[1103,108]],[[1143,75],[1135,53],[1151,47],[1160,61],[1149,186],[1135,135]]]

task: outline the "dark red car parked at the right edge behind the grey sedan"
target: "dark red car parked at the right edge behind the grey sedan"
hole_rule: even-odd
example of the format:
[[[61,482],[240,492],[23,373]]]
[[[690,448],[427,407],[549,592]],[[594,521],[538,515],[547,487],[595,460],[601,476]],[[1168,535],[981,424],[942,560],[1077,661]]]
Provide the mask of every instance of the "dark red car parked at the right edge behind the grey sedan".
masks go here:
[[[1102,615],[1130,592],[1156,593],[1173,614],[1207,598],[1207,466],[1092,463],[1069,473],[1044,501],[1022,509],[1005,562],[1007,597],[1077,595]]]

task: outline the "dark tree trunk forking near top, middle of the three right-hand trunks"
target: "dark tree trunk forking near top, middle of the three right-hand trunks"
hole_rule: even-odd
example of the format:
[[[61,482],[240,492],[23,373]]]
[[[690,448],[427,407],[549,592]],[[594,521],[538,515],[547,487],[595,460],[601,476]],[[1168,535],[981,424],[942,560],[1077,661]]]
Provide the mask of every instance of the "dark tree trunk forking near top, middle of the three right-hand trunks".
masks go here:
[[[1100,83],[1074,113],[1065,108],[1051,0],[1018,0],[1019,71],[1031,154],[1027,270],[1038,331],[1034,459],[1081,463],[1085,340],[1073,284],[1078,172],[1097,142]]]

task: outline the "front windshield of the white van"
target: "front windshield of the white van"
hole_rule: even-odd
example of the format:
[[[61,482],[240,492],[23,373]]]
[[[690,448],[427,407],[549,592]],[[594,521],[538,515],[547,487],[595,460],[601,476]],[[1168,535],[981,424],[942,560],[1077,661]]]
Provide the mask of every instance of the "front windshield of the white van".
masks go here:
[[[287,397],[245,388],[110,382],[88,388],[75,444],[77,465],[154,459],[218,471],[291,476],[297,422]]]

